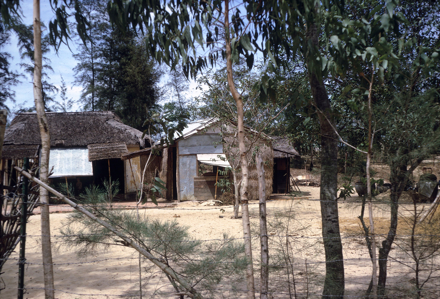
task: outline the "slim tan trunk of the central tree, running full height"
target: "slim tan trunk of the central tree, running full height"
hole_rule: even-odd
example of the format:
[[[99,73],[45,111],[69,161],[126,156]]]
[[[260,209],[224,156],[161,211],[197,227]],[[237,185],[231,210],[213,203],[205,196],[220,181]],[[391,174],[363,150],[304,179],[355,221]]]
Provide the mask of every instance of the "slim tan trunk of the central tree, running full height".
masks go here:
[[[246,157],[246,143],[245,143],[245,130],[243,122],[243,100],[240,93],[235,88],[234,78],[232,76],[232,49],[231,49],[231,37],[229,33],[229,1],[224,2],[224,29],[226,32],[226,71],[227,71],[227,83],[231,90],[232,97],[237,104],[237,131],[238,131],[238,148],[240,151],[240,162],[242,167],[242,184],[240,190],[241,204],[242,204],[242,220],[243,220],[243,238],[245,244],[245,255],[248,261],[246,267],[246,284],[247,284],[247,298],[255,298],[255,287],[253,281],[253,264],[252,264],[252,244],[250,235],[250,223],[249,223],[249,201],[247,189],[249,186],[249,170],[248,160]]]

